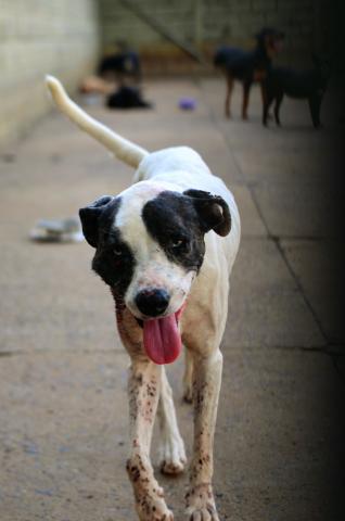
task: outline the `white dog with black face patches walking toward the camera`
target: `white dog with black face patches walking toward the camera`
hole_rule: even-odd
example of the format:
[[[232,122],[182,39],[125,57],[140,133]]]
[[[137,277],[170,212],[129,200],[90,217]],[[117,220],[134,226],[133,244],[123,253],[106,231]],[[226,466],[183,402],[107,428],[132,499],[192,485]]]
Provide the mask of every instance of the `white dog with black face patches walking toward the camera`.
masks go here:
[[[53,77],[47,85],[59,107],[118,158],[137,168],[135,183],[80,209],[92,267],[110,285],[118,331],[131,358],[130,455],[127,471],[142,521],[171,521],[153,474],[150,445],[161,420],[161,468],[186,466],[164,364],[186,347],[184,393],[194,404],[194,449],[187,519],[219,520],[213,488],[213,444],[221,381],[229,275],[240,242],[232,194],[192,149],[149,153],[89,117]]]

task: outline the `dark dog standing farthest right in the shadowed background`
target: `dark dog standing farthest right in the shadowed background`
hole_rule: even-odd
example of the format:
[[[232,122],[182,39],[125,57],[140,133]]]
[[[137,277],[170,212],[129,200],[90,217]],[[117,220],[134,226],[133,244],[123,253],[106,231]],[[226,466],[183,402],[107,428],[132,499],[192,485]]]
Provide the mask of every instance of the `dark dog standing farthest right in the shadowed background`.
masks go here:
[[[268,111],[274,101],[274,118],[280,125],[279,111],[284,94],[290,98],[308,100],[312,125],[321,126],[320,109],[331,74],[328,62],[312,56],[314,69],[294,71],[286,67],[272,67],[264,80],[263,124],[267,126]]]

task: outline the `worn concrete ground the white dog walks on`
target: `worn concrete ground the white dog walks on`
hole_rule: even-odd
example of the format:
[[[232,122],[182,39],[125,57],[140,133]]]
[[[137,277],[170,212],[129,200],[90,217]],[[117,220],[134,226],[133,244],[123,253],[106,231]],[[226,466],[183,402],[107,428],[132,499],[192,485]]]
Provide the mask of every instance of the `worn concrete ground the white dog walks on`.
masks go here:
[[[215,444],[220,519],[337,521],[344,336],[324,218],[334,125],[315,131],[306,104],[285,101],[284,127],[263,129],[257,90],[251,120],[239,117],[238,90],[228,122],[223,90],[218,79],[156,81],[153,111],[89,110],[150,150],[195,148],[240,206]],[[194,112],[178,110],[182,96],[197,100]],[[37,219],[75,215],[130,179],[56,112],[1,156],[1,521],[136,520],[124,468],[128,358],[112,298],[86,243],[28,240]],[[190,455],[181,363],[169,371]],[[187,475],[161,481],[182,520]]]

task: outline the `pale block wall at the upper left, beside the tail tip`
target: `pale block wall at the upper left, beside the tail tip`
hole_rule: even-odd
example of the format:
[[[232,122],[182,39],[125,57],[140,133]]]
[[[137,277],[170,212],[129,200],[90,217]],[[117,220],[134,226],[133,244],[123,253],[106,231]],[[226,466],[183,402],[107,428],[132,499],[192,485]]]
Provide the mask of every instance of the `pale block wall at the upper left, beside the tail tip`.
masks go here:
[[[0,145],[25,134],[50,109],[44,74],[73,89],[98,54],[97,1],[1,0]]]

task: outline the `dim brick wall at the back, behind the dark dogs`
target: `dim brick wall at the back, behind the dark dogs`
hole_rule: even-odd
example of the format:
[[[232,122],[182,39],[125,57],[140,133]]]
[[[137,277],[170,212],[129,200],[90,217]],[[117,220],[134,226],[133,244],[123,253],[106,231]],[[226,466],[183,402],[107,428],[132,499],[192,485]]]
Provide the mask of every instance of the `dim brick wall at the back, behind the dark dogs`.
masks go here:
[[[280,61],[286,64],[310,63],[310,53],[324,48],[325,0],[131,0],[179,38],[213,50],[219,43],[248,48],[253,35],[263,26],[286,33]],[[125,39],[143,55],[168,49],[176,51],[120,0],[100,0],[103,49],[116,39]]]

